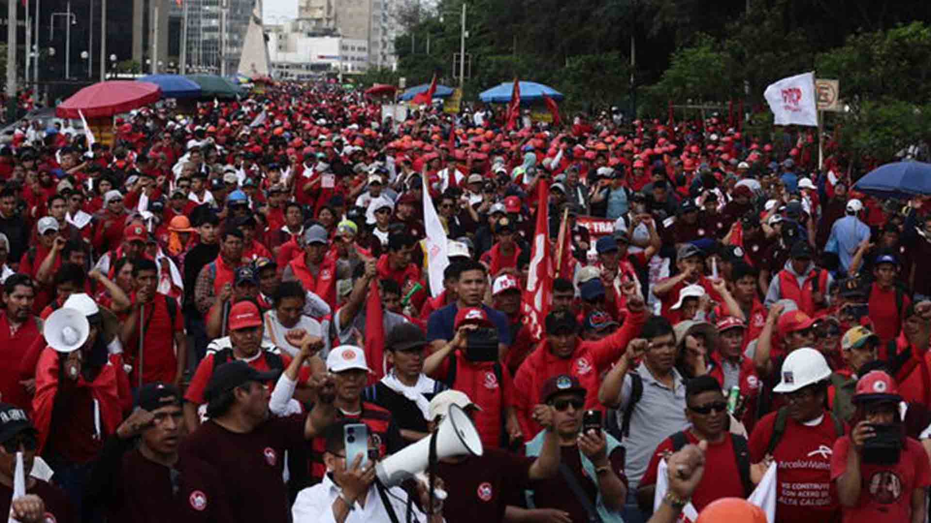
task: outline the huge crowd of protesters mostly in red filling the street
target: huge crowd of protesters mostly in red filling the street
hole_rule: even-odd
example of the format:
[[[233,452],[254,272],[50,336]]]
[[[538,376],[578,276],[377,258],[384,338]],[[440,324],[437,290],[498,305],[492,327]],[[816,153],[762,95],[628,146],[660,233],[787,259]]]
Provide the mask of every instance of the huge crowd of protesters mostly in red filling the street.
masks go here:
[[[132,111],[111,145],[21,122],[0,148],[0,510],[758,522],[731,498],[775,466],[778,523],[925,520],[929,200],[857,194],[803,133],[716,117],[392,114],[283,83]],[[445,498],[375,481],[452,406],[484,451],[441,457]]]

